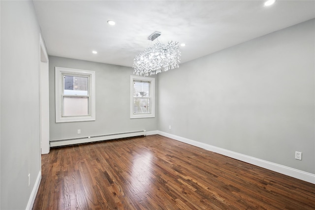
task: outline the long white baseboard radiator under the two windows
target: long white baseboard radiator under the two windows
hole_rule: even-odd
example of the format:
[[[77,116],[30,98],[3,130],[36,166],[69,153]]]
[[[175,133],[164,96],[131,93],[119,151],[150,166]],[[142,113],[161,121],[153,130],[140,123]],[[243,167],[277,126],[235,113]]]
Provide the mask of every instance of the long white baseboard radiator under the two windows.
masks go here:
[[[114,140],[114,139],[124,139],[128,137],[145,136],[145,135],[146,135],[146,130],[140,130],[140,131],[113,133],[113,134],[88,136],[88,137],[73,138],[73,139],[50,140],[50,147],[51,148],[61,147],[61,146],[67,146],[67,145],[84,144],[84,143],[107,141],[107,140]]]

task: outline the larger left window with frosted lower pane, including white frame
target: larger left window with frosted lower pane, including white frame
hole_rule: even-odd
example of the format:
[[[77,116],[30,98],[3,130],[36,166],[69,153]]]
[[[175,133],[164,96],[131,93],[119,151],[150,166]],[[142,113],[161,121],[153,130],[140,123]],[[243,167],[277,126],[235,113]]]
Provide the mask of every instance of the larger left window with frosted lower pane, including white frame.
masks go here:
[[[56,122],[95,120],[95,72],[55,68]]]

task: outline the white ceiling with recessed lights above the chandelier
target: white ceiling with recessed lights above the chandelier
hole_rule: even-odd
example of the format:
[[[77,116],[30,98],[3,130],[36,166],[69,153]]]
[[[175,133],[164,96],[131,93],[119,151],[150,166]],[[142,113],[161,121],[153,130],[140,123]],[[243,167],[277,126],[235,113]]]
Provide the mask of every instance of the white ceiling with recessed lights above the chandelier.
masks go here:
[[[154,31],[162,43],[187,44],[183,63],[315,18],[314,0],[33,2],[49,55],[123,66],[155,42],[147,39]]]

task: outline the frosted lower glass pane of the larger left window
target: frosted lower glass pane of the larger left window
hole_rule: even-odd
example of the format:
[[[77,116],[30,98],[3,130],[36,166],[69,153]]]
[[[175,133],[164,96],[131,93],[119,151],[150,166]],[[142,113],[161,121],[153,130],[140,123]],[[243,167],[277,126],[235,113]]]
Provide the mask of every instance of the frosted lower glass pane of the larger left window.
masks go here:
[[[63,97],[63,116],[89,115],[89,97]]]

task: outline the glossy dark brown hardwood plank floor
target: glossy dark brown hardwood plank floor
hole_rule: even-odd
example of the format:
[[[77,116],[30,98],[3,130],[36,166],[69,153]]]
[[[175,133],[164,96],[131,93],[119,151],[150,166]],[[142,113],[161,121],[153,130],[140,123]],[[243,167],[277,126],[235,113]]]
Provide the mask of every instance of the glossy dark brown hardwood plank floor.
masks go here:
[[[163,136],[51,149],[33,210],[314,210],[315,185]]]

